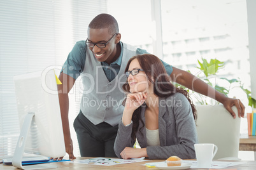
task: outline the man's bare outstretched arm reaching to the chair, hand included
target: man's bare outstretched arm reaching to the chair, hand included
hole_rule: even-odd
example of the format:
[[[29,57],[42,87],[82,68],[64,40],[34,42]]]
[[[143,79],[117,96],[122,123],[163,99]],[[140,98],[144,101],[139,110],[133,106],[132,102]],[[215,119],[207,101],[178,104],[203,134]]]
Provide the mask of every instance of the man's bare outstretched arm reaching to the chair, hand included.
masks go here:
[[[206,82],[202,81],[198,77],[186,72],[184,70],[177,69],[173,67],[173,72],[171,73],[171,80],[178,82],[182,86],[185,86],[188,89],[201,93],[202,95],[213,98],[224,105],[224,107],[231,113],[232,117],[236,118],[236,114],[232,110],[232,106],[238,108],[238,116],[244,117],[245,115],[245,106],[239,99],[228,98],[224,94],[218,92]]]

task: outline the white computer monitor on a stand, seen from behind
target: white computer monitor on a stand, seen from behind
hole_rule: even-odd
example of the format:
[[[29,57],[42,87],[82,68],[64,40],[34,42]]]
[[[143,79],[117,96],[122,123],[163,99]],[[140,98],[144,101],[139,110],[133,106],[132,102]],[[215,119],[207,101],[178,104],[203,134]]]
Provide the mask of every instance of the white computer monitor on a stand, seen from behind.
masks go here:
[[[22,167],[24,152],[46,157],[63,157],[66,154],[56,77],[52,69],[13,78],[21,128],[12,160],[15,167],[53,168],[47,164]]]

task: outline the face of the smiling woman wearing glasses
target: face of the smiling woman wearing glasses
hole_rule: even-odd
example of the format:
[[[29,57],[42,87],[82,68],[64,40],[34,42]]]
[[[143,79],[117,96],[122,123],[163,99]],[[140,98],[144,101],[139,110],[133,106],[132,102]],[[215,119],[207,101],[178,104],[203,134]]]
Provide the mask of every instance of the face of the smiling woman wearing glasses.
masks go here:
[[[129,65],[128,72],[136,69],[142,69],[139,65],[139,62],[137,59],[132,60],[132,62]],[[147,92],[148,91],[148,78],[146,77],[146,74],[144,71],[139,70],[138,74],[132,75],[130,74],[127,78],[127,82],[130,86],[130,92],[131,93],[138,93],[138,92]]]

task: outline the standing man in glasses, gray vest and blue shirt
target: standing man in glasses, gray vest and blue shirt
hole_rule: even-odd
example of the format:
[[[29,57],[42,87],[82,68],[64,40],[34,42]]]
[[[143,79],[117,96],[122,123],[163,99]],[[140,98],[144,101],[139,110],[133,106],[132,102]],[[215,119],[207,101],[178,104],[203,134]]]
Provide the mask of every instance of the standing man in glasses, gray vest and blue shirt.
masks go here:
[[[66,152],[69,159],[75,159],[69,131],[68,93],[80,75],[83,97],[74,128],[81,156],[116,157],[113,143],[124,109],[120,103],[124,100],[124,69],[129,58],[146,51],[120,42],[117,20],[108,14],[97,15],[90,22],[87,33],[87,41],[76,42],[59,75],[62,82],[58,85],[59,101]],[[173,81],[220,101],[234,118],[236,115],[231,107],[236,105],[239,117],[243,117],[245,107],[240,100],[227,98],[188,72],[167,63],[164,66]]]

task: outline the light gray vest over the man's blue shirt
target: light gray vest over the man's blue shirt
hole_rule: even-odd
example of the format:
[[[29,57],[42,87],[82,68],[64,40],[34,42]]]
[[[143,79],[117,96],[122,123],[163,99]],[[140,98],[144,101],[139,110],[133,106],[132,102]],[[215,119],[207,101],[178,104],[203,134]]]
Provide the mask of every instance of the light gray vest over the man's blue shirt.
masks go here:
[[[92,53],[87,50],[85,69],[80,75],[83,82],[83,96],[80,109],[83,115],[93,124],[107,122],[116,126],[122,117],[125,93],[122,89],[126,82],[124,70],[129,59],[136,55],[136,48],[124,44],[120,71],[113,81],[109,82],[101,62],[98,62]]]

